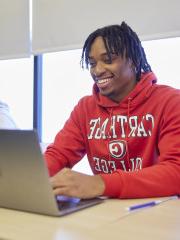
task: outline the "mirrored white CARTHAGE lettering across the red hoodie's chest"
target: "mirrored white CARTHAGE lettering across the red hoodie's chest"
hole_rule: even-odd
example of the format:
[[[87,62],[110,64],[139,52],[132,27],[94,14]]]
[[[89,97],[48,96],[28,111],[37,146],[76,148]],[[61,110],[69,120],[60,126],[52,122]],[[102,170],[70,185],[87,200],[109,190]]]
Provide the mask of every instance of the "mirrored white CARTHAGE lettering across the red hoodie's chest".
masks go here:
[[[88,139],[117,139],[126,137],[150,137],[154,128],[153,115],[114,115],[111,118],[90,119]]]

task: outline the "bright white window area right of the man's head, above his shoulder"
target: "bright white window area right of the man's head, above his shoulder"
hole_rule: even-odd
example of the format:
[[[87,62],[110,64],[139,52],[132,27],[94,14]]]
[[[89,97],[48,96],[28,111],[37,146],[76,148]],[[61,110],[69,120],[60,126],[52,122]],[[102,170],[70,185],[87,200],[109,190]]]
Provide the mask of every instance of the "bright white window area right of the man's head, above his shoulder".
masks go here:
[[[146,41],[143,47],[158,83],[180,89],[180,38]]]

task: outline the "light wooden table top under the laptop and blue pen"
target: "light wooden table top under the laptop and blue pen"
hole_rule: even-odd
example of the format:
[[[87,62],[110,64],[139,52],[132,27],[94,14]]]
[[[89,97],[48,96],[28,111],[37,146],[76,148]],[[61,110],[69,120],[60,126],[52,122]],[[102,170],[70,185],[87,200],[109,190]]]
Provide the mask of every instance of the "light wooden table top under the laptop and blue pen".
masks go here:
[[[108,199],[64,217],[0,208],[0,240],[179,240],[180,200],[128,212],[152,199]]]

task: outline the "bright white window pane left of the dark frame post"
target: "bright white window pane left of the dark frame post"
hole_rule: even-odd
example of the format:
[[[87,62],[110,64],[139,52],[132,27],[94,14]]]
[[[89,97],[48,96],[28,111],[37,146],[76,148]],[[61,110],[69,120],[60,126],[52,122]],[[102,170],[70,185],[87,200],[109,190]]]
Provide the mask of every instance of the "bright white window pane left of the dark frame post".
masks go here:
[[[0,100],[21,129],[33,127],[33,58],[0,61]]]

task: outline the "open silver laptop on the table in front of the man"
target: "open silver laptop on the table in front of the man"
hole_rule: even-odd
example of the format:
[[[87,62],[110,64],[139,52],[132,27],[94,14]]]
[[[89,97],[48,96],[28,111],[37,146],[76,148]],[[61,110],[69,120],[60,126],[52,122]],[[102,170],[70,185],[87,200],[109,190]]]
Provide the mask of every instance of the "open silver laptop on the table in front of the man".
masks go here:
[[[63,216],[102,203],[55,197],[35,130],[0,130],[0,207]]]

